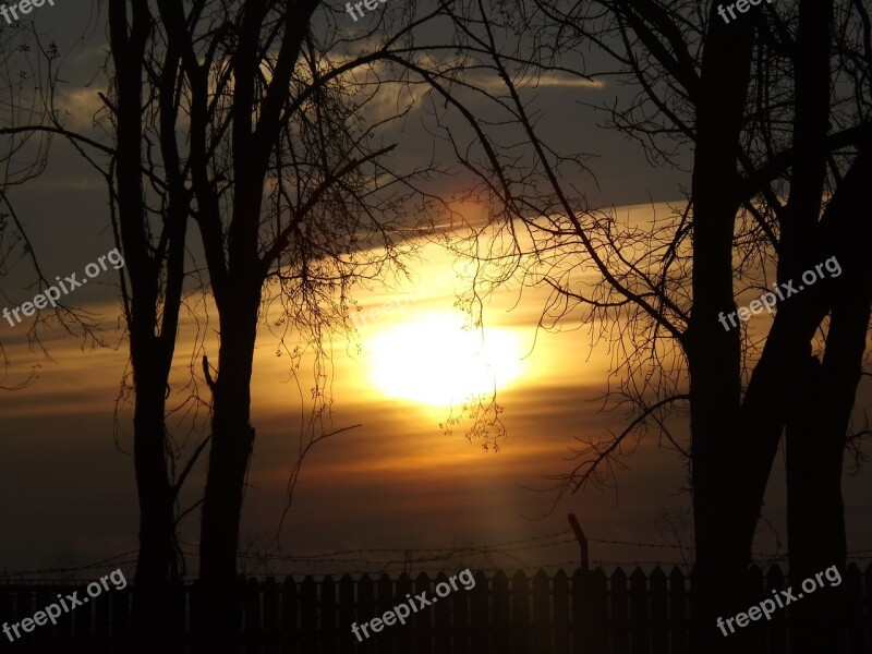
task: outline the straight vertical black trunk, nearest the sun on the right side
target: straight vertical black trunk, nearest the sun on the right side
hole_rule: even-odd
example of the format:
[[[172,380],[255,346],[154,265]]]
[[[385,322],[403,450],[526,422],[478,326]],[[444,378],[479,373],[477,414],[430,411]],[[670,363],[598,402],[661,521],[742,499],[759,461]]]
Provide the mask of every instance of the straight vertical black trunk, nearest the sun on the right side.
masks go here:
[[[716,16],[705,44],[697,101],[693,165],[693,314],[686,334],[690,372],[691,452],[697,560],[693,652],[740,652],[742,634],[724,637],[718,617],[741,610],[750,542],[734,495],[742,467],[735,440],[741,391],[735,311],[732,232],[739,208],[736,160],[750,80],[751,28],[725,29]],[[753,517],[755,518],[755,516]],[[737,583],[738,581],[738,583]]]

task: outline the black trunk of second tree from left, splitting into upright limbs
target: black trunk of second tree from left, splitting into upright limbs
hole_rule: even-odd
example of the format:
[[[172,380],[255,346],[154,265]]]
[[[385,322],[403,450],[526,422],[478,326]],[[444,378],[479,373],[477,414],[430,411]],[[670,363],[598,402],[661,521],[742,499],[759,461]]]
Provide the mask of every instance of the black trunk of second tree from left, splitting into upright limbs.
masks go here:
[[[196,149],[192,170],[197,202],[197,222],[209,267],[220,323],[218,377],[213,386],[213,433],[209,472],[203,502],[199,543],[199,577],[204,585],[202,642],[204,651],[226,647],[239,628],[237,615],[237,547],[242,518],[245,475],[254,446],[251,425],[251,378],[261,292],[268,257],[261,261],[261,210],[270,153],[282,128],[282,110],[291,89],[291,77],[318,0],[288,3],[284,35],[263,102],[256,100],[262,75],[261,31],[266,5],[245,3],[233,53],[232,217],[227,228],[227,252],[220,203],[207,183],[211,155]],[[192,134],[196,148],[206,147],[208,124],[207,85],[196,81]],[[257,118],[255,124],[255,117]],[[193,141],[194,138],[192,138]]]

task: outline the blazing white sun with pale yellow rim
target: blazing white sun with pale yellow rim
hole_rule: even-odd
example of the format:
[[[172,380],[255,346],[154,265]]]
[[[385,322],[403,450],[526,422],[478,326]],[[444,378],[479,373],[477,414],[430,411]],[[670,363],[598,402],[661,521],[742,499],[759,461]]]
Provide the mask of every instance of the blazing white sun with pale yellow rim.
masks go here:
[[[505,388],[522,371],[508,329],[464,330],[457,313],[433,312],[379,329],[367,342],[372,380],[385,396],[448,407]]]

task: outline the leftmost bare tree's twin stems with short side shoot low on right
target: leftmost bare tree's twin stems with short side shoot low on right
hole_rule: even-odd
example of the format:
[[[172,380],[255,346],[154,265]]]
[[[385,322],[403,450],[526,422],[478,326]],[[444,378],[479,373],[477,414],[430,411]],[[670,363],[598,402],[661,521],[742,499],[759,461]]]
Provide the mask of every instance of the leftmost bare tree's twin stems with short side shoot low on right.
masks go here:
[[[169,591],[179,579],[177,501],[185,477],[208,438],[201,441],[178,479],[166,428],[166,398],[179,332],[192,191],[177,145],[182,83],[178,65],[154,46],[155,25],[146,3],[110,2],[113,63],[111,112],[116,147],[111,161],[113,229],[126,261],[122,289],[130,330],[134,390],[134,464],[140,497],[136,567],[136,640],[143,650],[166,646],[170,635]],[[147,83],[153,93],[144,93]],[[153,162],[152,142],[159,144]],[[152,204],[154,203],[154,204]],[[157,210],[155,208],[157,207]],[[153,227],[154,226],[154,227]],[[165,640],[166,637],[166,640]]]

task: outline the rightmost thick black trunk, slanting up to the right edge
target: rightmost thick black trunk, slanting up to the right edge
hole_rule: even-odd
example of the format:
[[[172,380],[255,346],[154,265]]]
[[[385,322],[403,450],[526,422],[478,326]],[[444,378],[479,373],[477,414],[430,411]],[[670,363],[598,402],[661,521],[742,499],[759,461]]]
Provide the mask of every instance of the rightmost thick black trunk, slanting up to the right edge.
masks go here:
[[[872,307],[868,249],[872,220],[868,180],[872,157],[863,152],[833,196],[823,227],[841,274],[834,289],[823,364],[811,360],[806,393],[797,398],[787,429],[788,542],[797,585],[832,566],[846,565],[841,472],[845,443]],[[791,641],[799,654],[845,651],[844,586],[803,598],[791,613]]]

